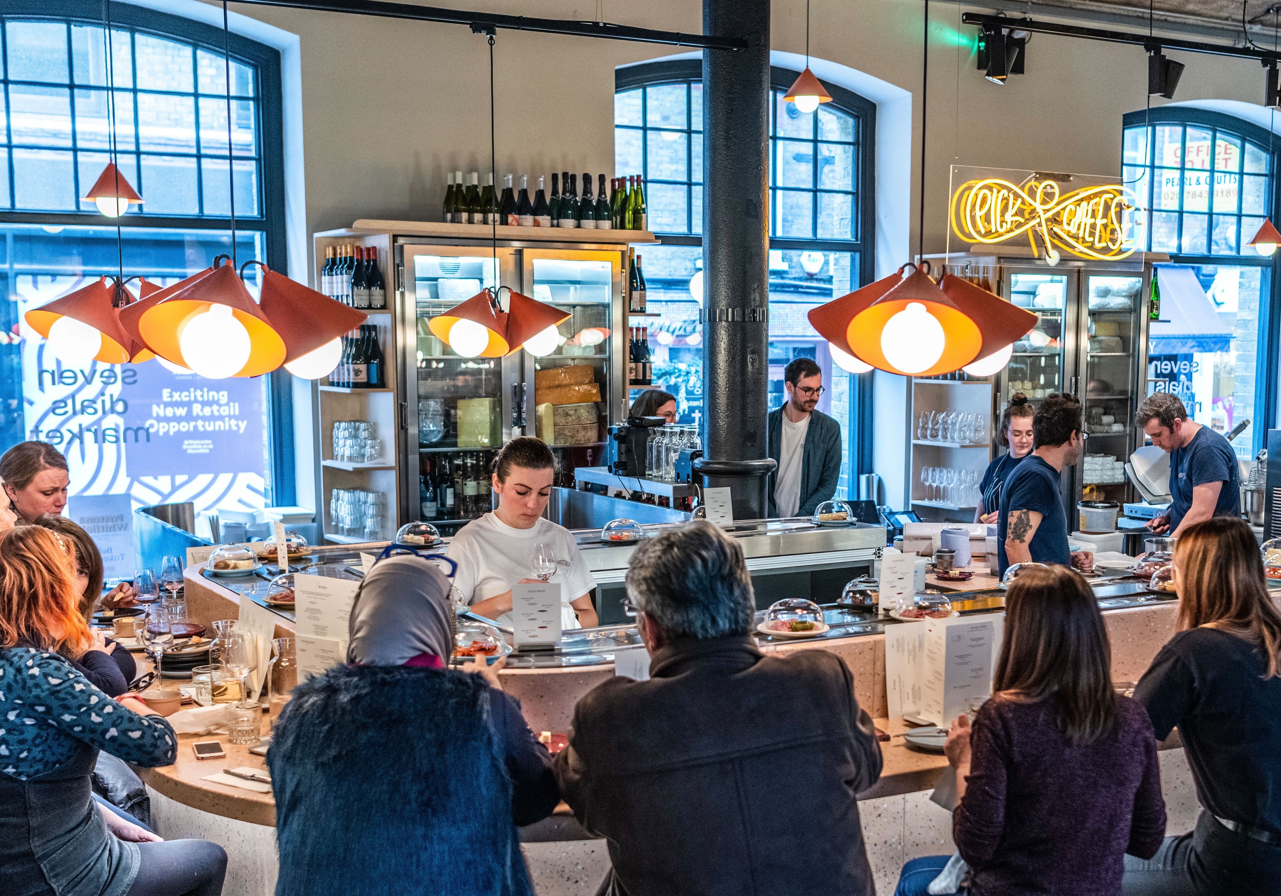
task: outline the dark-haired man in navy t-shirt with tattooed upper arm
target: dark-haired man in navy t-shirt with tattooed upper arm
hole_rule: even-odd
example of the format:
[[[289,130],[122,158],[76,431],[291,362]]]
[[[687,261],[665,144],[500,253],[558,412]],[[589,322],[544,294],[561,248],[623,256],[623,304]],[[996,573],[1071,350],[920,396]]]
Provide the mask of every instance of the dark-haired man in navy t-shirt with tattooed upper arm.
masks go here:
[[[1016,563],[1054,563],[1094,568],[1090,551],[1072,554],[1067,543],[1067,511],[1059,474],[1081,459],[1086,436],[1081,431],[1081,402],[1050,392],[1032,417],[1035,447],[1006,479],[997,517],[999,574]]]

